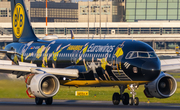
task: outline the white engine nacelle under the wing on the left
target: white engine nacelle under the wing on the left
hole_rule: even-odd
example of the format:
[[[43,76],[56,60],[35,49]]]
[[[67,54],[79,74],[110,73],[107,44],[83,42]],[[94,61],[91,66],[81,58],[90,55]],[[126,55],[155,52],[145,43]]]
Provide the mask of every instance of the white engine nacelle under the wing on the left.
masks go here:
[[[28,92],[35,97],[53,97],[59,91],[59,80],[52,74],[35,74],[29,79],[29,85],[27,82]]]

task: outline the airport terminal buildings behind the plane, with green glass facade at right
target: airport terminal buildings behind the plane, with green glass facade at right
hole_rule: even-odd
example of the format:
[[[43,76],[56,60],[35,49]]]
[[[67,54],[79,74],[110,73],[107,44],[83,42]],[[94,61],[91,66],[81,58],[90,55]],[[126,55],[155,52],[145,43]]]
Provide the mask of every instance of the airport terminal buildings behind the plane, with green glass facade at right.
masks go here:
[[[25,1],[34,32],[43,38],[45,2]],[[51,0],[47,30],[62,39],[70,39],[73,30],[76,39],[141,40],[157,53],[175,53],[175,47],[180,46],[180,0]],[[0,48],[12,41],[8,0],[0,1],[0,41]]]

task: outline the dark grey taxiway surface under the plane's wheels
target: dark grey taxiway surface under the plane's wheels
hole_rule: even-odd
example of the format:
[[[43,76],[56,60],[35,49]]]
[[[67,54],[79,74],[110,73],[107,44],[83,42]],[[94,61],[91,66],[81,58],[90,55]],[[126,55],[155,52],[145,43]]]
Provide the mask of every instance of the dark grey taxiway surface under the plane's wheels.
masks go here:
[[[34,99],[0,99],[1,110],[180,110],[180,104],[140,103],[117,105],[111,101],[54,100],[53,105],[35,105]]]

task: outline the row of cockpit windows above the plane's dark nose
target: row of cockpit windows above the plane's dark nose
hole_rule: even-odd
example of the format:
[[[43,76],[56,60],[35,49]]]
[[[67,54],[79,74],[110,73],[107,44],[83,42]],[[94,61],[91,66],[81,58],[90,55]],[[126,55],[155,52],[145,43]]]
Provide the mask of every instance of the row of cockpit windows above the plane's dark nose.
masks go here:
[[[147,51],[130,51],[126,55],[126,59],[134,59],[134,58],[156,58],[156,54],[154,52]]]

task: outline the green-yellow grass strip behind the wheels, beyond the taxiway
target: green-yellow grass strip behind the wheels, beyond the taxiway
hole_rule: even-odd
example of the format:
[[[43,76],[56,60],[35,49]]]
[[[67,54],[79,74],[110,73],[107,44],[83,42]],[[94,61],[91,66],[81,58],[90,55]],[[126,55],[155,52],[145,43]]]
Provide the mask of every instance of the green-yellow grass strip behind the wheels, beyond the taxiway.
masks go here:
[[[177,82],[178,87],[176,93],[170,98],[158,99],[149,98],[150,103],[180,103],[180,82]],[[26,95],[26,84],[22,80],[0,80],[0,98],[29,98]],[[75,91],[89,91],[89,96],[75,96]],[[148,102],[148,98],[143,93],[144,85],[139,86],[136,90],[136,97],[139,97],[140,102]],[[102,100],[111,101],[114,92],[119,92],[119,88],[115,87],[67,87],[60,86],[60,90],[54,99],[63,100]],[[126,89],[125,92],[130,93]],[[131,95],[130,95],[131,96]]]

